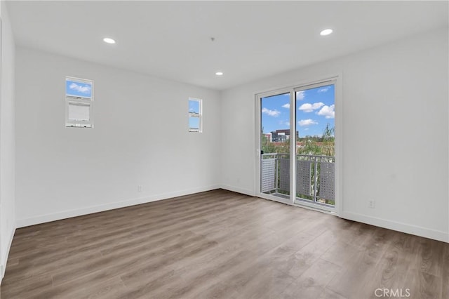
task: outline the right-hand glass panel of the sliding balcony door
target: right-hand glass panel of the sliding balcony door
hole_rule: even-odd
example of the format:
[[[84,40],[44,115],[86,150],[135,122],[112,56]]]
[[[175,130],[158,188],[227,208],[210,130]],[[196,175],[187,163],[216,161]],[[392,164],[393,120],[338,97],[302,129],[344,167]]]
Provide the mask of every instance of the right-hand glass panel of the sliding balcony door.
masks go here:
[[[295,202],[335,206],[335,84],[295,91]]]

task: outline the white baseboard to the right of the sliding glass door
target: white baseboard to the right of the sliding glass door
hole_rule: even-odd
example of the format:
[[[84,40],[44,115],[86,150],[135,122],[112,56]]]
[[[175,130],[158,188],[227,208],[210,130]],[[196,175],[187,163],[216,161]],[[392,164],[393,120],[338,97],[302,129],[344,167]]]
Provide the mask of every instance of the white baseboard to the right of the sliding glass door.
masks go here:
[[[343,212],[339,215],[340,218],[347,220],[354,220],[357,222],[366,223],[369,225],[375,225],[378,227],[384,227],[389,230],[396,230],[398,232],[405,232],[406,234],[415,234],[416,236],[434,239],[449,243],[449,233],[439,230],[431,230],[429,228],[420,227],[417,225],[410,225],[403,222],[396,222],[392,220],[376,218],[368,215],[361,215],[357,213]]]

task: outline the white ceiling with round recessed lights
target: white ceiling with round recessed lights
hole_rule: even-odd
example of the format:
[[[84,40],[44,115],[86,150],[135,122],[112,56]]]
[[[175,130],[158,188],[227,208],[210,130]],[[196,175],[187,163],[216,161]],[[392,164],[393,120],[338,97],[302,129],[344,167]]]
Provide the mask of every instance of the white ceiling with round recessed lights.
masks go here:
[[[20,46],[219,90],[448,27],[448,1],[8,1],[8,13]]]

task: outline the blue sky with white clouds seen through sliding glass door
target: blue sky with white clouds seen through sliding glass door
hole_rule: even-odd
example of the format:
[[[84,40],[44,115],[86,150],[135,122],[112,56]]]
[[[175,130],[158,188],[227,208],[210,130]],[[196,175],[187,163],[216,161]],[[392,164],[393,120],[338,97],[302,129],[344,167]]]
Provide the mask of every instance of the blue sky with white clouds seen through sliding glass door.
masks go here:
[[[296,93],[296,131],[300,137],[323,135],[326,124],[335,126],[335,86],[321,86]],[[290,128],[290,94],[262,98],[264,133]]]

